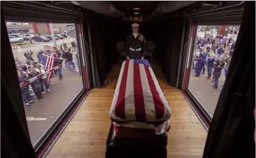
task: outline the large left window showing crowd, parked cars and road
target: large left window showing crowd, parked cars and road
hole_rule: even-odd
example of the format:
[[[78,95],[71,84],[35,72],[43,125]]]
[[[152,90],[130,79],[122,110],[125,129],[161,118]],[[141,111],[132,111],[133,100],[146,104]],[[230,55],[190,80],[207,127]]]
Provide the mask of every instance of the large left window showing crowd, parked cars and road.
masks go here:
[[[7,30],[35,144],[84,88],[75,24],[9,22]]]

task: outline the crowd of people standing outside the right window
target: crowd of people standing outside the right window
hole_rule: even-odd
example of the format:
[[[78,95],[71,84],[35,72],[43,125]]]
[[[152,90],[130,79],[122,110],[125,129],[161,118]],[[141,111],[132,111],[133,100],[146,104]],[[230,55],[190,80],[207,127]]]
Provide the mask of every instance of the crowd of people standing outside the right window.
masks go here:
[[[195,71],[195,77],[205,73],[207,67],[207,80],[213,83],[212,88],[218,88],[218,81],[221,72],[224,69],[225,77],[228,73],[229,63],[234,51],[233,38],[218,35],[206,35],[204,38],[198,38],[196,41],[195,52],[193,56],[192,69]],[[229,55],[224,55],[224,50],[228,46]]]

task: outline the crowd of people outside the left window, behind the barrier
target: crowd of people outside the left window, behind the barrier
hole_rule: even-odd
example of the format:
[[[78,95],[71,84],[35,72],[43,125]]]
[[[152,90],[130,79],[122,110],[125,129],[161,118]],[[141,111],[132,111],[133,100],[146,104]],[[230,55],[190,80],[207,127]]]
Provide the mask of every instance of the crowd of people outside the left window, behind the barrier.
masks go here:
[[[62,75],[62,62],[64,60],[67,70],[70,71],[75,69],[76,72],[80,72],[77,44],[73,40],[71,45],[72,46],[68,48],[67,44],[63,41],[60,49],[45,46],[43,49],[40,49],[40,52],[38,52],[38,60],[33,59],[33,52],[31,49],[29,51],[27,50],[23,54],[27,60],[25,63],[20,62],[19,58],[15,57],[14,60],[19,77],[19,83],[23,83],[46,72],[45,65],[43,65],[40,60],[40,55],[55,57],[54,67],[59,66],[59,69],[54,70],[53,77],[59,76],[59,80],[64,80]],[[48,74],[32,81],[28,85],[22,86],[20,89],[25,106],[30,106],[34,103],[34,101],[32,101],[35,98],[34,96],[36,96],[37,99],[43,99],[43,96],[46,94],[45,91],[47,91],[47,93],[50,92],[49,86]]]

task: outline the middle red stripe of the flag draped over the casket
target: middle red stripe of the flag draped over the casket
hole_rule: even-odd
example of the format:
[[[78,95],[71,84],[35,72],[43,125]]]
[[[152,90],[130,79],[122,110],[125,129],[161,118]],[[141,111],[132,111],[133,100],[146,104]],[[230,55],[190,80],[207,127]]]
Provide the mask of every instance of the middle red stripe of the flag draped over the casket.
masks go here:
[[[134,64],[134,107],[136,121],[145,122],[145,104],[143,99],[142,81],[140,80],[139,64]]]

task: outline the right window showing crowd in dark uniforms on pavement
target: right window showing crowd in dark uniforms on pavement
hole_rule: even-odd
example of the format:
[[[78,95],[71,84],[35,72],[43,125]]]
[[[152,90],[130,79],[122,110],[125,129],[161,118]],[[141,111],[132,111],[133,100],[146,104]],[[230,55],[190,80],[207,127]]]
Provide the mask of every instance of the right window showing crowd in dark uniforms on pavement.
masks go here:
[[[211,117],[224,85],[239,28],[197,27],[188,89]]]

